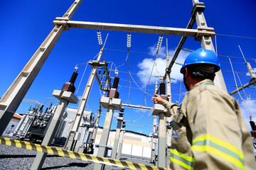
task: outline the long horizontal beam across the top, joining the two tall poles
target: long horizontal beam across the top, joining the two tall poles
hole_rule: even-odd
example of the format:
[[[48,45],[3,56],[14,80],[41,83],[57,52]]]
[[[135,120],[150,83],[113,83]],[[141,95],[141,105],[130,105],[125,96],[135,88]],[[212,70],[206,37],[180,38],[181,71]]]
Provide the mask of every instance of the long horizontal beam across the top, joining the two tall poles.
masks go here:
[[[137,26],[128,24],[118,24],[118,23],[95,23],[95,22],[85,22],[85,21],[53,21],[54,25],[68,25],[69,28],[84,28],[92,30],[115,30],[124,31],[129,33],[152,33],[161,35],[179,35],[186,37],[196,37],[198,30],[190,28],[170,28],[170,27],[158,27],[158,26]],[[205,31],[204,34],[215,36],[212,31]]]

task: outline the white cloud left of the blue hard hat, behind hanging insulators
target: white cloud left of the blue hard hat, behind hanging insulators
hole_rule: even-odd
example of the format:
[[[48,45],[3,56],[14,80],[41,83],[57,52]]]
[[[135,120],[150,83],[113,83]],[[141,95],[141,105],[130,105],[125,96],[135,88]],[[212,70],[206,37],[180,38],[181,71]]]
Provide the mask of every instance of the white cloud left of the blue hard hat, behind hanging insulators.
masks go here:
[[[174,52],[175,52],[175,50],[169,51],[170,61],[171,61],[172,56],[174,55]],[[186,57],[188,56],[189,53],[190,52],[181,50],[181,52],[179,53],[179,55],[176,59],[176,62],[183,64],[184,60],[186,59]],[[156,56],[155,45],[152,47],[149,47],[149,55],[154,56],[154,57]],[[138,77],[139,77],[140,81],[142,81],[145,84],[149,81],[149,75],[151,74],[151,69],[154,64],[154,57],[145,58],[144,60],[142,60],[142,62],[139,62],[139,64],[137,65],[139,67]],[[159,54],[157,55],[157,57],[158,58],[154,65],[152,76],[153,77],[159,77],[159,76],[163,77],[165,74],[165,70],[166,70],[166,47],[162,47],[159,50]],[[180,73],[180,69],[181,69],[180,64],[174,64],[174,66],[171,68],[171,78],[178,79],[178,80],[183,79],[183,75]],[[151,77],[150,83],[154,83],[154,81],[155,81],[155,79]],[[172,80],[172,83],[176,83],[176,82],[177,82],[177,80]]]

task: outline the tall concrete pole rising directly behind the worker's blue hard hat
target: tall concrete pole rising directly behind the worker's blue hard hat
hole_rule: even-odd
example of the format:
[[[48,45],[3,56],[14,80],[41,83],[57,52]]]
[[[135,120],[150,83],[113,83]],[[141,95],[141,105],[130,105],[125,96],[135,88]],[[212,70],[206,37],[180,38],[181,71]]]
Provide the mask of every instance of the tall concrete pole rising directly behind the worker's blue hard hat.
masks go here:
[[[203,10],[205,8],[204,4],[199,2],[198,0],[192,0],[192,2],[193,2],[193,6],[194,6],[193,9],[195,9],[195,11],[192,14],[196,16],[196,24],[198,26],[197,29],[202,30],[202,31],[209,30],[207,23],[206,23],[206,18],[203,15]],[[196,8],[196,7],[198,7],[198,8]],[[201,47],[203,49],[213,50],[215,52],[214,47],[213,47],[213,41],[212,41],[212,38],[210,37],[210,35],[202,35],[200,38],[200,41],[201,41]],[[221,89],[223,89],[224,91],[227,91],[221,69],[219,72],[216,72],[215,74],[216,75],[215,75],[215,79],[214,79],[214,84],[216,86],[220,87]]]

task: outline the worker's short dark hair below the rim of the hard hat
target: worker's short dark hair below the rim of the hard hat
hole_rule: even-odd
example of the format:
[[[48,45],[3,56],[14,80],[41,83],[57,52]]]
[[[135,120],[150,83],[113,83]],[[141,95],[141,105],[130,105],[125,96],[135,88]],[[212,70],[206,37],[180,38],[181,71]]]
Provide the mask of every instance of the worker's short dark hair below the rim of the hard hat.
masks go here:
[[[214,80],[215,67],[212,64],[190,64],[186,68],[193,79]]]

